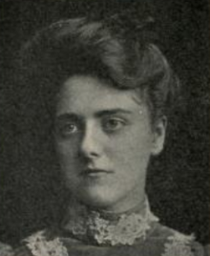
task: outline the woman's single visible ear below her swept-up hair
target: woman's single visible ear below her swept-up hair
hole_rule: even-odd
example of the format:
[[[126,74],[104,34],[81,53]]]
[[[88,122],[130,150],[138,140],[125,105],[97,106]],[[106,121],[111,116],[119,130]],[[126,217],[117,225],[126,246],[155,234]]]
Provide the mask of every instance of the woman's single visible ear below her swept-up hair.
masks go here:
[[[167,127],[167,117],[165,116],[158,118],[158,120],[154,124],[154,128],[153,128],[154,139],[153,139],[153,147],[151,152],[153,156],[157,156],[163,149],[166,127]]]

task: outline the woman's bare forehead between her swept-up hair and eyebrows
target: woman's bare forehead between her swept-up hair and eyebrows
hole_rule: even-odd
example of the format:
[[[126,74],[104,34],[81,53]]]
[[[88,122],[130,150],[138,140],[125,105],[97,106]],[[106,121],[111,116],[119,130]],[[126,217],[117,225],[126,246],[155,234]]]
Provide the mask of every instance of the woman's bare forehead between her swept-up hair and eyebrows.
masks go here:
[[[96,111],[124,109],[135,111],[142,100],[133,90],[119,90],[105,81],[88,75],[69,77],[57,97],[56,115],[91,114]]]

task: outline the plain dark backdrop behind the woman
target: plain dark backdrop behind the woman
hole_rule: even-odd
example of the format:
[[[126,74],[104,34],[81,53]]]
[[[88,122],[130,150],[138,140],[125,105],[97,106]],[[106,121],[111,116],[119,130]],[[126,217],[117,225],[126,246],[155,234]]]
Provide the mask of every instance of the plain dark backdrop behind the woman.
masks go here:
[[[22,173],[15,122],[13,62],[33,32],[59,18],[126,10],[123,0],[0,0],[0,241],[15,244],[61,214],[57,195],[37,173]],[[137,0],[135,1],[137,2]],[[140,2],[140,1],[138,1]],[[209,3],[147,0],[160,41],[182,84],[182,101],[169,122],[165,150],[149,169],[153,211],[167,224],[209,243]],[[11,82],[12,81],[12,82]],[[30,177],[30,178],[29,178]],[[55,193],[55,192],[54,192]],[[56,193],[55,193],[56,194]]]

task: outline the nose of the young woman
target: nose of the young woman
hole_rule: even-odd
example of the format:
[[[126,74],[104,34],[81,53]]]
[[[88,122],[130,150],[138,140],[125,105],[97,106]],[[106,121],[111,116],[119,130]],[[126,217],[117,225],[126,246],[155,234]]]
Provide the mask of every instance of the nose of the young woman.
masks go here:
[[[98,158],[102,154],[102,135],[94,124],[87,124],[81,139],[80,152],[86,158]]]

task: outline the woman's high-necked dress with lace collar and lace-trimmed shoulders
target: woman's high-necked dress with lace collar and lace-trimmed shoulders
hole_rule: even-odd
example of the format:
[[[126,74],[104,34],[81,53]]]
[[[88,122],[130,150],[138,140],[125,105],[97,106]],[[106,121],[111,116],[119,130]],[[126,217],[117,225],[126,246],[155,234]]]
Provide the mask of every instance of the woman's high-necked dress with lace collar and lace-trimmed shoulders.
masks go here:
[[[141,205],[142,206],[142,205]],[[15,249],[15,256],[202,256],[202,246],[166,227],[139,207],[113,215],[72,207],[59,227],[41,230]]]

